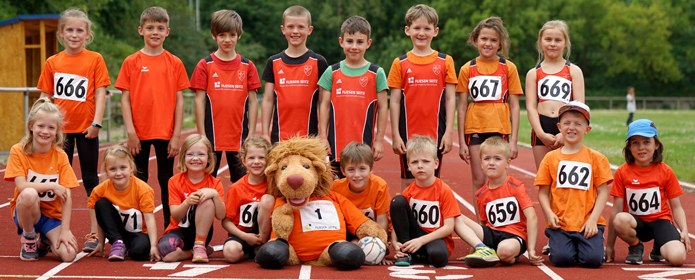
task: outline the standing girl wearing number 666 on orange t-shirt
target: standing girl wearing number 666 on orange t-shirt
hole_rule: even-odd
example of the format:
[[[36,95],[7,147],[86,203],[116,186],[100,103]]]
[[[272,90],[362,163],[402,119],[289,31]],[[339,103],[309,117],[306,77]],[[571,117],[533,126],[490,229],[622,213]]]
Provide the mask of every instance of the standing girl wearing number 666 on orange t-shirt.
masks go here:
[[[65,10],[58,21],[58,42],[65,50],[46,60],[36,86],[41,97],[53,95],[56,105],[65,110],[63,148],[72,165],[77,144],[87,197],[99,184],[99,129],[104,116],[105,88],[111,84],[104,58],[85,49],[93,39],[92,22],[87,15],[77,9]],[[99,243],[93,210],[89,210],[89,219],[91,233],[82,248],[85,252],[91,252]]]

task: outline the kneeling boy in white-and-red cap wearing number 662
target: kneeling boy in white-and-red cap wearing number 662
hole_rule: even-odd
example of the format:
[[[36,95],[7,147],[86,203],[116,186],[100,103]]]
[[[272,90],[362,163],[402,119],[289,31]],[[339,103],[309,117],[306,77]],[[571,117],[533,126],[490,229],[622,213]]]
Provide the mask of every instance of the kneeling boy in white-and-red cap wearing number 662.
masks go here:
[[[589,107],[571,101],[558,110],[558,128],[565,146],[549,152],[541,161],[534,185],[548,228],[550,261],[558,267],[603,264],[601,212],[613,182],[608,159],[583,144],[591,131]]]

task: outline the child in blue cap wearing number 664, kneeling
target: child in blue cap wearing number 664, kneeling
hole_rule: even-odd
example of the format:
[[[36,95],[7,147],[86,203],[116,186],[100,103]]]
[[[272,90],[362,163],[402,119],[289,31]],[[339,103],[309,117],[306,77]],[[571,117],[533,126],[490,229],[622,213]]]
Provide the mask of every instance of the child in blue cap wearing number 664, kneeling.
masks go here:
[[[630,246],[625,258],[628,264],[642,264],[642,242],[652,239],[651,261],[665,259],[673,266],[682,266],[690,251],[688,224],[679,199],[683,189],[671,167],[662,162],[664,146],[658,134],[654,122],[647,119],[628,127],[625,163],[615,171],[611,190],[615,206],[608,222],[606,262],[615,259],[616,235]]]

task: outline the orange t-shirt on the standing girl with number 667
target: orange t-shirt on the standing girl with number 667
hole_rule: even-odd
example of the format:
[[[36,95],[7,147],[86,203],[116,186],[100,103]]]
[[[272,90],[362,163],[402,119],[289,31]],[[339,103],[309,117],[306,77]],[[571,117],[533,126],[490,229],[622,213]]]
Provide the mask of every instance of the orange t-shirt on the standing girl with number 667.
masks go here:
[[[517,72],[516,65],[509,60],[505,60],[504,64],[500,63],[500,60],[493,61],[483,61],[476,58],[476,71],[481,75],[491,75],[492,73],[498,72],[498,67],[506,65],[506,77],[499,77],[501,85],[506,86],[507,93],[509,94],[522,95],[524,94],[521,89],[521,82],[519,81],[519,73]],[[470,77],[471,62],[467,62],[461,67],[459,72],[458,85],[456,86],[456,92],[458,93],[468,93],[468,81]],[[484,87],[481,84],[479,87]],[[491,91],[494,89],[494,84],[490,83],[487,85]],[[481,89],[482,91],[482,89]],[[473,102],[468,104],[468,110],[466,110],[466,123],[465,123],[465,134],[473,133],[500,133],[500,134],[511,134],[512,126],[509,116],[509,104],[507,102]]]

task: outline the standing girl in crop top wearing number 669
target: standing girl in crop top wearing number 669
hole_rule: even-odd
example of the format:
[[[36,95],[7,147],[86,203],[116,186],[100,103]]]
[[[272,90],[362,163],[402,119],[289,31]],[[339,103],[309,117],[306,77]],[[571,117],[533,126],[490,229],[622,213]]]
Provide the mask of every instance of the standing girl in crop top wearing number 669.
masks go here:
[[[548,152],[564,145],[557,127],[558,109],[572,100],[584,102],[584,74],[569,62],[572,43],[564,21],[546,22],[538,32],[538,65],[526,74],[526,109],[536,169]]]

